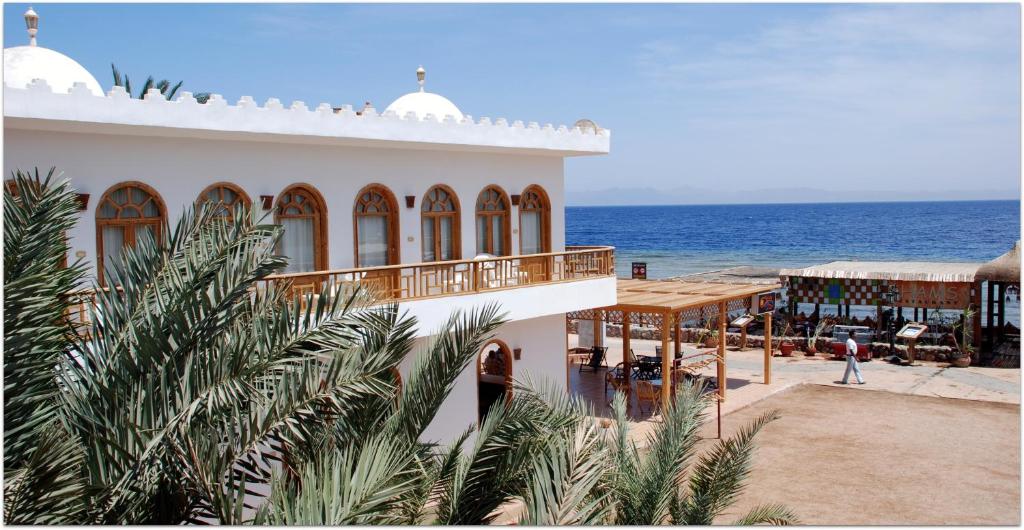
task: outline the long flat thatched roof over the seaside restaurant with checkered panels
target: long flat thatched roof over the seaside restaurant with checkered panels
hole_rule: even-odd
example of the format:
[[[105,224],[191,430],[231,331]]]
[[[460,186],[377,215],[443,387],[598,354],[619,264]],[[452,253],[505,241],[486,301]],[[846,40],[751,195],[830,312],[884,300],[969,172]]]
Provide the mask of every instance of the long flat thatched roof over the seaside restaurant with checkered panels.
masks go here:
[[[782,269],[780,276],[892,281],[973,282],[981,263],[923,261],[834,261],[803,269]]]

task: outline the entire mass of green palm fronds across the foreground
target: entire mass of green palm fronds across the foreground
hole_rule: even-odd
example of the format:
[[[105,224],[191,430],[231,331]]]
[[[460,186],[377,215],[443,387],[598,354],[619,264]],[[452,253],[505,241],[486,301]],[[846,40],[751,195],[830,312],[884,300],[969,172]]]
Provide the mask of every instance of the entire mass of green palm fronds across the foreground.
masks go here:
[[[4,193],[4,514],[20,524],[709,524],[767,415],[689,467],[706,401],[686,387],[645,449],[551,385],[517,384],[453,443],[424,440],[502,324],[456,313],[412,359],[416,321],[356,293],[265,281],[282,228],[185,212],[106,267],[91,323],[66,313],[75,195],[53,171]],[[739,523],[795,520],[779,506]]]

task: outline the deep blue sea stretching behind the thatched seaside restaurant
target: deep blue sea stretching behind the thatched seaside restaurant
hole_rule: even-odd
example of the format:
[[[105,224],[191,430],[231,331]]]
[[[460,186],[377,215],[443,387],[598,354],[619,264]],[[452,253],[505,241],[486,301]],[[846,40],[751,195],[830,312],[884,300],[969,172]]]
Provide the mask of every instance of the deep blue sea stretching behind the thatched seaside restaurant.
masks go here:
[[[565,244],[614,247],[620,277],[635,261],[648,278],[837,260],[984,262],[1020,239],[1020,201],[568,207]],[[1016,300],[1007,316],[1020,326]]]

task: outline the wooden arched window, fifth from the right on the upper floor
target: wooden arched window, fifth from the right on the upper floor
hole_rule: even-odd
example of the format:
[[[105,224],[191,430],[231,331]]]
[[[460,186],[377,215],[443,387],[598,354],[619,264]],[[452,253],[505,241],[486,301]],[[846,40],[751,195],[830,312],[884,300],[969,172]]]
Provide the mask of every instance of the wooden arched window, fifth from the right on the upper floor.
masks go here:
[[[327,205],[308,184],[289,186],[278,196],[274,222],[285,227],[278,247],[288,256],[286,272],[327,269]]]

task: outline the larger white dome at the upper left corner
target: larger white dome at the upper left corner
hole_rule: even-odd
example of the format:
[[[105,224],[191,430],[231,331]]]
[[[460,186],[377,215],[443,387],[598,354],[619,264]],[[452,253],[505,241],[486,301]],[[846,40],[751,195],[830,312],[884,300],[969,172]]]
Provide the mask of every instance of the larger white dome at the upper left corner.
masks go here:
[[[63,53],[39,46],[15,46],[3,50],[3,82],[25,88],[34,79],[42,79],[57,93],[67,93],[75,83],[85,83],[97,96],[103,89],[89,71]]]

